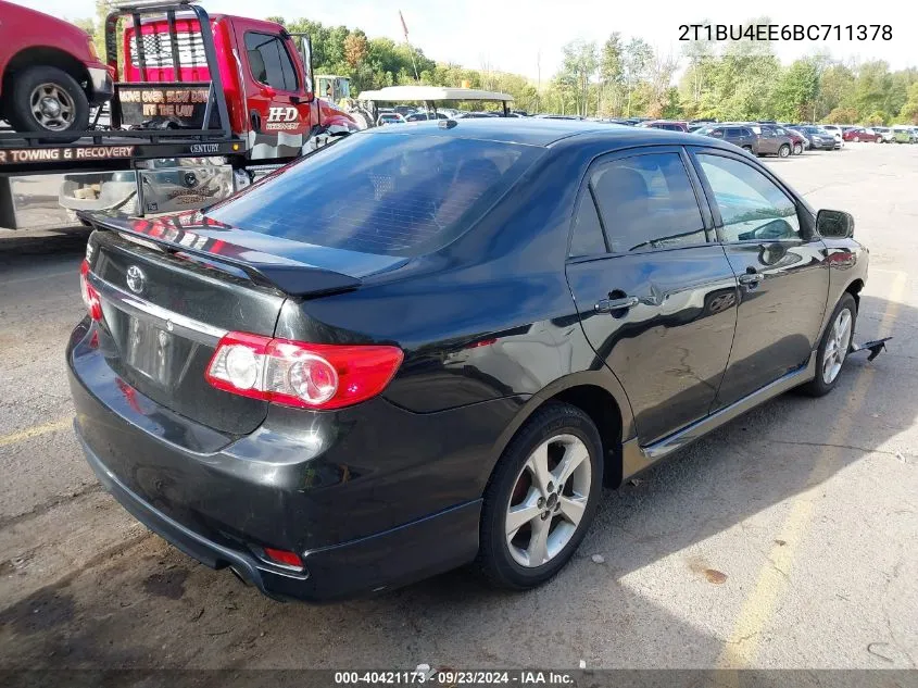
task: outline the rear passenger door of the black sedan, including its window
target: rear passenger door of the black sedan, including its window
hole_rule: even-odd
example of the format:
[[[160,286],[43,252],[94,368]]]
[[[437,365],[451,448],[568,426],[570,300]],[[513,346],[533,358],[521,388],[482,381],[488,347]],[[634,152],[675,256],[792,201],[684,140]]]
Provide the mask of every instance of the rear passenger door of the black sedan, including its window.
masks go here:
[[[707,414],[730,353],[737,282],[700,189],[680,148],[647,148],[594,163],[576,209],[568,284],[642,443]]]

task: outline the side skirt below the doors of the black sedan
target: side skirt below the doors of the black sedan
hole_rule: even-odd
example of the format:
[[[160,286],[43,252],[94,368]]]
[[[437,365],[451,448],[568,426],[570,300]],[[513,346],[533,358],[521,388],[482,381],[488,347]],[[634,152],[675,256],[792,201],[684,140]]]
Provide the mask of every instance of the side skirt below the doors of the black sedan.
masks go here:
[[[664,437],[663,439],[657,440],[652,445],[647,445],[646,447],[640,447],[637,439],[625,442],[621,454],[621,479],[628,479],[632,475],[650,467],[661,459],[682,449],[687,445],[690,445],[710,430],[729,423],[733,418],[742,415],[746,411],[751,411],[769,399],[783,395],[785,391],[812,380],[815,376],[816,352],[814,351],[810,352],[809,361],[805,366],[788,373],[783,377],[776,379],[770,385],[766,385],[747,397],[743,397],[739,401],[733,402],[726,409],[721,409],[701,421],[695,421],[688,427],[684,427],[668,437]]]

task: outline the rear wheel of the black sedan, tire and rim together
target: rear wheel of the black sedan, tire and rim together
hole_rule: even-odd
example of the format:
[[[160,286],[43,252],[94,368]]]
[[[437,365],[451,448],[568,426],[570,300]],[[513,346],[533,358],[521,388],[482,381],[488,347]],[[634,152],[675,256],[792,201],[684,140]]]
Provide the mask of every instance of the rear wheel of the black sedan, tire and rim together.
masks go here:
[[[602,495],[602,441],[580,409],[550,403],[504,450],[485,490],[476,565],[494,586],[526,590],[570,560]]]

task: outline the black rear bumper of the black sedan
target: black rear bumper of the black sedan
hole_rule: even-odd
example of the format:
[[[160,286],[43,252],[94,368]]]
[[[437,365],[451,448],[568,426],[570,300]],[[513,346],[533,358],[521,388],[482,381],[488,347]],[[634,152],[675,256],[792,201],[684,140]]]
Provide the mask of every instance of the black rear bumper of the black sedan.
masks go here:
[[[415,414],[383,400],[340,412],[272,408],[251,435],[199,425],[129,388],[85,320],[67,347],[87,460],[139,521],[265,593],[375,592],[471,561],[489,451],[517,402]],[[293,551],[305,572],[260,556]]]

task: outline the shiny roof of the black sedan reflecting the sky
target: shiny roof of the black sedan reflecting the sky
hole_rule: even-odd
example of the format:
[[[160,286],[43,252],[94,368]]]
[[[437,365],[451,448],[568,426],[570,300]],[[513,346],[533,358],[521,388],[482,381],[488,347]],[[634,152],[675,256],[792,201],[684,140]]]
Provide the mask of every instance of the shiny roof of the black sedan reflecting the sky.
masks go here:
[[[454,124],[447,125],[447,122]],[[700,139],[696,134],[686,132],[638,128],[604,122],[529,117],[470,117],[440,122],[412,122],[401,127],[398,133],[388,128],[372,128],[365,132],[365,134],[378,136],[405,136],[408,133],[413,136],[450,136],[543,148],[555,146],[561,141],[578,145],[605,141],[609,143],[609,150],[643,145],[697,146],[702,141],[704,146],[728,147],[728,145],[720,146],[716,139]],[[729,146],[729,148],[733,147]]]

